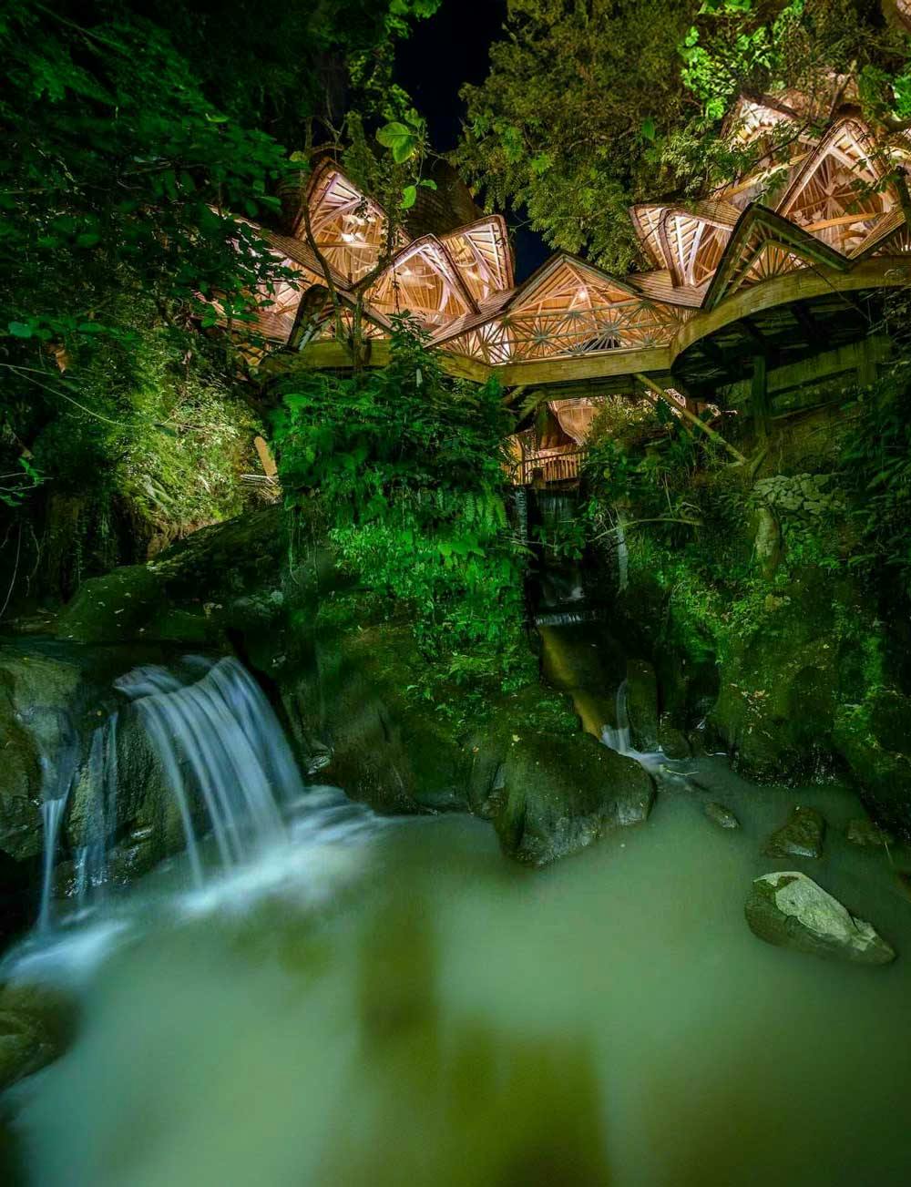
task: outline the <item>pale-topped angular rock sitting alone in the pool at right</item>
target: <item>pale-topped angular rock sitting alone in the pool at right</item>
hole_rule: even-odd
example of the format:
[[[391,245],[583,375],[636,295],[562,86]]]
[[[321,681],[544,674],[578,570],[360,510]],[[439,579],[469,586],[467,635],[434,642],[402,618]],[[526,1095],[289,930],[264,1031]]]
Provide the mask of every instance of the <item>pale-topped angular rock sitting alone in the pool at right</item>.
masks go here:
[[[754,880],[745,907],[749,929],[779,947],[854,964],[881,965],[893,948],[812,878],[795,870]]]

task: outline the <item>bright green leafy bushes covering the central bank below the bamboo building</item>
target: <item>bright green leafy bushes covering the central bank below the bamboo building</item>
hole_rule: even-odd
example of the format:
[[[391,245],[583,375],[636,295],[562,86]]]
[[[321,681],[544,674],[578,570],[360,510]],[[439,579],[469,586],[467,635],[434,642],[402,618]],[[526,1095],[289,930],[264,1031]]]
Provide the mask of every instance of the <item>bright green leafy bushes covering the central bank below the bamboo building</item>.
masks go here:
[[[361,585],[390,612],[407,608],[431,684],[508,686],[527,658],[521,556],[504,503],[510,418],[495,382],[447,376],[403,317],[387,367],[302,370],[279,389],[287,496],[316,501]]]

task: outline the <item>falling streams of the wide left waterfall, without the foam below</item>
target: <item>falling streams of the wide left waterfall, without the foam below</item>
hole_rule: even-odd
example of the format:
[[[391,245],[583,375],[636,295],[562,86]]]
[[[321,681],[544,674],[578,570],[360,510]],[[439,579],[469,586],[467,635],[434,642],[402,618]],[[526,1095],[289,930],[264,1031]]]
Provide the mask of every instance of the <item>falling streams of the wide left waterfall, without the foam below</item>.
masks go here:
[[[235,659],[184,656],[177,671],[133,668],[114,681],[133,703],[179,815],[192,883],[205,882],[204,839],[220,870],[234,869],[281,837],[304,786],[281,726],[261,688]],[[82,837],[75,852],[80,907],[106,896],[118,833],[116,712],[91,735],[80,774]],[[38,927],[51,925],[53,865],[78,769],[75,731],[62,731],[57,760],[44,761],[44,863]]]

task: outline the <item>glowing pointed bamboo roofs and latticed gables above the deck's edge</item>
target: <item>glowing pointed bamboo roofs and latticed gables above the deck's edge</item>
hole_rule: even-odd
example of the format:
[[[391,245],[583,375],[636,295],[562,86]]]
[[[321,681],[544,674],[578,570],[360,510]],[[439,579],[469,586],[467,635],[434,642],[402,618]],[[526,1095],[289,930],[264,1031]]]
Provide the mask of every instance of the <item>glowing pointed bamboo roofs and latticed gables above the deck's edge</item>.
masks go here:
[[[841,80],[831,83],[833,93],[843,91]],[[726,129],[734,142],[761,148],[755,170],[685,207],[633,207],[652,267],[625,277],[561,252],[517,285],[499,215],[443,235],[397,230],[390,242],[381,205],[327,161],[306,195],[316,250],[303,215],[293,235],[264,231],[296,275],[264,294],[259,328],[287,341],[297,304],[327,284],[328,266],[343,310],[362,301],[368,336],[386,335],[390,317],[407,311],[436,344],[487,366],[641,351],[665,347],[701,311],[786,273],[836,274],[873,256],[911,253],[899,195],[871,131],[850,115],[816,139],[809,107],[791,91],[741,99]],[[331,337],[337,325],[325,312],[318,334]],[[350,324],[348,312],[342,322]]]

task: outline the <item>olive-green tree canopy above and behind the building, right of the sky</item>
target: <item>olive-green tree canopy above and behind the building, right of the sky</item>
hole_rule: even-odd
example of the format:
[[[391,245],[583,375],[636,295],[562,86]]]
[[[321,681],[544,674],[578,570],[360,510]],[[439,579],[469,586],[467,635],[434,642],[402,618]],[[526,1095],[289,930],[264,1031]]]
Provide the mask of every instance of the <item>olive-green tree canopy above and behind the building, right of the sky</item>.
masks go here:
[[[468,104],[460,166],[555,248],[611,271],[639,260],[627,208],[711,192],[765,147],[732,146],[740,94],[798,88],[810,125],[854,81],[903,118],[907,38],[863,0],[510,0]]]

